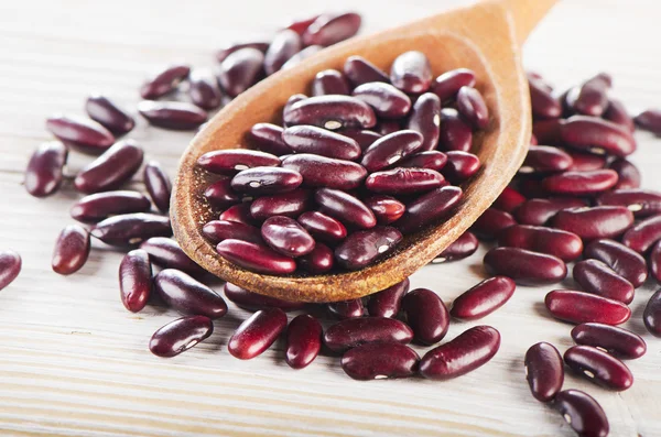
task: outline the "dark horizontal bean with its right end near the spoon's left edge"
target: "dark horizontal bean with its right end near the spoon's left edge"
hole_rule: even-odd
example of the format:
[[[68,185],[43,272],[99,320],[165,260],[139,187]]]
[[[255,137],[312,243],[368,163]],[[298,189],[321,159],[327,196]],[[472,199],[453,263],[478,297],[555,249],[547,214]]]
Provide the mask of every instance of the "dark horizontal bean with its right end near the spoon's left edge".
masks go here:
[[[172,236],[170,218],[155,214],[122,214],[98,222],[91,237],[110,245],[138,244],[152,237]]]

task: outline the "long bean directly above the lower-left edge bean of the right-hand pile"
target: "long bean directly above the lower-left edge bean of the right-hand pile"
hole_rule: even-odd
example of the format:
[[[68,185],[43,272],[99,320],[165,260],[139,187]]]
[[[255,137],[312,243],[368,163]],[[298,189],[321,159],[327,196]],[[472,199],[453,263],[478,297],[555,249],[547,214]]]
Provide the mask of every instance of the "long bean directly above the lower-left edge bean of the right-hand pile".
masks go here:
[[[498,244],[548,253],[565,262],[574,261],[583,253],[583,241],[575,233],[541,226],[509,227],[498,233]]]

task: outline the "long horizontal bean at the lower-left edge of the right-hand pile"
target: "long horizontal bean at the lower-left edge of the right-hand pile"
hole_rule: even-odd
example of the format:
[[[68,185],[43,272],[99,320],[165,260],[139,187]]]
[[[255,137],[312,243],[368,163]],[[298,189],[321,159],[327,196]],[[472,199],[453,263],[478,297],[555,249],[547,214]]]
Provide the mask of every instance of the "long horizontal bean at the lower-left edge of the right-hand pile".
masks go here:
[[[508,276],[523,285],[554,284],[567,275],[567,266],[560,258],[519,248],[491,249],[484,262],[490,274]]]

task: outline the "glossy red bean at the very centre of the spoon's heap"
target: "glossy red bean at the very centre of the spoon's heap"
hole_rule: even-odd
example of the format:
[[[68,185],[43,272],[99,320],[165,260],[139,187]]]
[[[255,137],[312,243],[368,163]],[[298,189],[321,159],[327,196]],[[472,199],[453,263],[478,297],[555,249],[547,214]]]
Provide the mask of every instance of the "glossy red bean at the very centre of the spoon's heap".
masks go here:
[[[311,153],[288,156],[282,166],[283,170],[300,174],[308,187],[354,189],[367,176],[367,171],[360,164]]]

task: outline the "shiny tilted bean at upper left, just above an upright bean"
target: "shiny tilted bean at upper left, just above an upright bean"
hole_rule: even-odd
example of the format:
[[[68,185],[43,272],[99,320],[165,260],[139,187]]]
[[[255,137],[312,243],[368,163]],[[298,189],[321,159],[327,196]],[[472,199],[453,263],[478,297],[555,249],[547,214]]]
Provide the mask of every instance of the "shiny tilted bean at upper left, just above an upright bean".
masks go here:
[[[73,143],[86,153],[101,153],[115,143],[109,130],[84,117],[53,116],[46,120],[46,129],[57,139]]]

